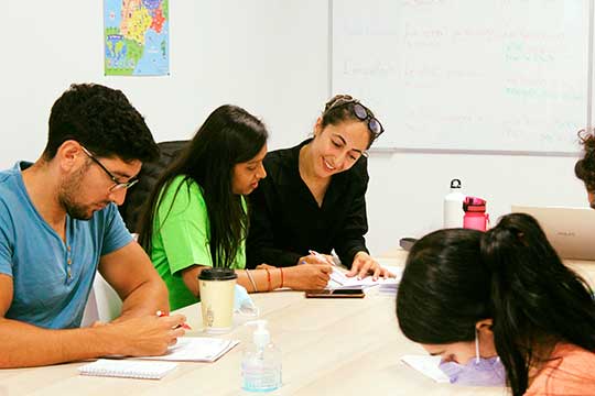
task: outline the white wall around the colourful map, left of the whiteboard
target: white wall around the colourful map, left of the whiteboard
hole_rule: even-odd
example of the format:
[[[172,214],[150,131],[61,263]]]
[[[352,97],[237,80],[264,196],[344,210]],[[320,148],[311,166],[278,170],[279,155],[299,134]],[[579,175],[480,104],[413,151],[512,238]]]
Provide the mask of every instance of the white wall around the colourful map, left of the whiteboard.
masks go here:
[[[172,0],[169,77],[104,76],[102,1],[12,1],[2,14],[2,168],[36,158],[71,82],[122,89],[158,141],[190,138],[235,103],[263,119],[271,145],[293,144],[327,98],[326,1]]]

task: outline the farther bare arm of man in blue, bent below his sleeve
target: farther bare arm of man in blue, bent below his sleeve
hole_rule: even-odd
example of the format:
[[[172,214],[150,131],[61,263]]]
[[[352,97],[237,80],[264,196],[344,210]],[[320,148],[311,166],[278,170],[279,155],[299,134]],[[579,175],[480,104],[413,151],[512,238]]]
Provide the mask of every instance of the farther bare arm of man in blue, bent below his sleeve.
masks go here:
[[[167,288],[137,242],[101,256],[99,272],[123,301],[117,320],[170,311]]]

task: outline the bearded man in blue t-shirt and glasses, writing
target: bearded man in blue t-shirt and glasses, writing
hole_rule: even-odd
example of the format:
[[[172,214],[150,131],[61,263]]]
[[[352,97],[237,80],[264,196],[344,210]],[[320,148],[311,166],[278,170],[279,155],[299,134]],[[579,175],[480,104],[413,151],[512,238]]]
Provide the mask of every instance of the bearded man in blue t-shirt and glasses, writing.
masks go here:
[[[121,91],[73,85],[52,107],[42,156],[0,172],[0,367],[156,355],[184,333],[183,316],[155,316],[167,290],[116,208],[158,154]],[[122,312],[79,328],[97,270]]]

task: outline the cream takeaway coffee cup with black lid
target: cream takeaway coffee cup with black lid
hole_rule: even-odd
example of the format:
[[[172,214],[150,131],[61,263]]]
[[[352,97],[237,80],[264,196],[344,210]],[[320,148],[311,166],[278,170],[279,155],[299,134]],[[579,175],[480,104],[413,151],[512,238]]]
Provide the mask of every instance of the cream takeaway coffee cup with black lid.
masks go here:
[[[237,277],[230,268],[205,268],[198,275],[203,326],[206,332],[220,334],[231,330]]]

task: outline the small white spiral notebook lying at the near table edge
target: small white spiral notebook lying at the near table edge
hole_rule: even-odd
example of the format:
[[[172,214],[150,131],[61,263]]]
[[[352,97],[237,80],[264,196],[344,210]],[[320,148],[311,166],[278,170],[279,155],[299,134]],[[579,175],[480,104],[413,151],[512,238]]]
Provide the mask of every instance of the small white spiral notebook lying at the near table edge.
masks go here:
[[[176,366],[177,363],[171,362],[99,359],[78,367],[78,373],[80,375],[161,380]]]

